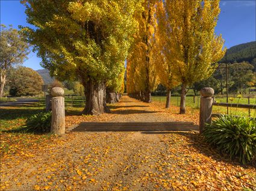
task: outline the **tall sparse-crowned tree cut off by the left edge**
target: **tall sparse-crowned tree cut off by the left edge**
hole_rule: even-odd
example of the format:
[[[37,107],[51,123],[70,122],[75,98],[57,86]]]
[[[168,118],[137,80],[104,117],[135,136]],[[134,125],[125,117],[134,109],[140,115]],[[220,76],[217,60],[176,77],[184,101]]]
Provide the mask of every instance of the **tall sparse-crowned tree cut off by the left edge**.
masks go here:
[[[29,53],[29,45],[23,41],[17,29],[1,25],[0,40],[0,98],[4,95],[7,70],[22,64]]]

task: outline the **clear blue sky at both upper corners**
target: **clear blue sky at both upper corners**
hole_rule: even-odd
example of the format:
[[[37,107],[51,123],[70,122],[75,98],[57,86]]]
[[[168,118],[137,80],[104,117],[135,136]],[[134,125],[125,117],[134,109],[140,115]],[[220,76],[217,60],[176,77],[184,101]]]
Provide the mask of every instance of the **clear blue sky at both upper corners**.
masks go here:
[[[25,7],[17,0],[1,1],[1,24],[27,26]],[[231,47],[249,41],[255,41],[256,36],[256,0],[252,1],[220,1],[221,12],[216,26],[216,34],[222,34],[225,39],[225,46]],[[31,52],[26,67],[38,70],[40,58],[36,53]]]

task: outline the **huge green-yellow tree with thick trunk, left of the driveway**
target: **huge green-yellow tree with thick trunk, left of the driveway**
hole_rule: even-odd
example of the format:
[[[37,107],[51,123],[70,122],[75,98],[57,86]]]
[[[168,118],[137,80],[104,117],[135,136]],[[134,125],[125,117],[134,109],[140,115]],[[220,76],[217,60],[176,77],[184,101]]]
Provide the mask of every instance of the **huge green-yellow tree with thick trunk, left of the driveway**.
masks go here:
[[[84,114],[108,111],[105,87],[123,70],[133,35],[137,31],[134,13],[140,1],[27,0],[27,22],[23,28],[57,79],[80,79],[85,89]]]

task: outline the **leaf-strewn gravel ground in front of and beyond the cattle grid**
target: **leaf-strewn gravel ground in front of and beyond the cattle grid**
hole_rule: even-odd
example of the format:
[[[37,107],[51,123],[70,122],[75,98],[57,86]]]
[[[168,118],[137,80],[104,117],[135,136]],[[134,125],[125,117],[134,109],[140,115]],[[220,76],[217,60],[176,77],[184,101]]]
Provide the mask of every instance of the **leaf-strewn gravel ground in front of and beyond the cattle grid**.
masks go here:
[[[112,114],[69,112],[81,121],[198,121],[189,111],[123,96]],[[11,108],[8,108],[11,109]],[[72,114],[72,115],[71,115]],[[16,121],[13,127],[23,123]],[[17,124],[18,123],[18,124]],[[242,190],[256,189],[254,166],[231,162],[197,132],[1,133],[1,190]]]

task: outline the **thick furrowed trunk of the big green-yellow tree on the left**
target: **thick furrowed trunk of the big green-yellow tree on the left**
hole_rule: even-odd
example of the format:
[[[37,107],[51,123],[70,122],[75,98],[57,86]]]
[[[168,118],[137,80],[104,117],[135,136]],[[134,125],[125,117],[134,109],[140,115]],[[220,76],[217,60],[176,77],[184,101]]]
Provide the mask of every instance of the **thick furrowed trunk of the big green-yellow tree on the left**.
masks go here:
[[[89,80],[84,84],[86,106],[83,114],[100,115],[110,112],[106,105],[106,88],[104,82],[93,82]]]

